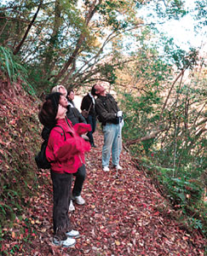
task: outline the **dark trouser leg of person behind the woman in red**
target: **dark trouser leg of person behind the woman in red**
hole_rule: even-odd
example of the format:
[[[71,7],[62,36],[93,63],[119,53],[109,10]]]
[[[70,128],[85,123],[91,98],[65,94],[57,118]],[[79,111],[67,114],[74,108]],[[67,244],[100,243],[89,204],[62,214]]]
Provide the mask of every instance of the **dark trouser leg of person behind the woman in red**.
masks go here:
[[[78,172],[73,173],[73,176],[75,176],[76,180],[72,189],[72,195],[73,196],[78,196],[81,195],[81,191],[83,189],[83,182],[86,177],[86,171],[85,171],[85,166],[80,166],[78,168]]]

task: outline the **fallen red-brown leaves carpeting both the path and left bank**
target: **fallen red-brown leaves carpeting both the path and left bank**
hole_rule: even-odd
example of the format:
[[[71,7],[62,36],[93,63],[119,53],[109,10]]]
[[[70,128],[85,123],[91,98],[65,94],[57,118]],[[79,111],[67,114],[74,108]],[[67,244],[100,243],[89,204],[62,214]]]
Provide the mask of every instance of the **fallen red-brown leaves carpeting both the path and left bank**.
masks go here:
[[[1,97],[0,95],[0,99]],[[24,100],[28,101],[27,97],[24,97]],[[18,102],[18,99],[15,100],[18,104],[16,116],[20,115],[20,106],[24,112],[21,116],[30,116],[35,111],[37,113],[37,106],[29,109],[28,112],[27,106]],[[12,104],[11,102],[12,99],[9,98],[7,106],[13,109],[14,102]],[[18,126],[20,119],[15,119],[13,113],[8,113],[8,109],[1,108],[0,103],[0,112],[4,111],[2,113],[10,117],[12,124],[8,121],[5,124],[7,125],[4,129],[5,134],[1,133],[0,154],[4,155],[8,150],[8,159],[12,158],[10,149],[6,148],[6,143],[14,143],[9,130],[11,129],[9,127],[12,127],[16,129],[16,133],[12,134],[18,142],[14,143],[14,152],[21,151],[23,154],[26,152],[25,157],[32,162],[34,158],[32,153],[23,150],[20,144],[23,143],[25,148],[28,148],[27,140],[30,138],[30,133],[27,132],[26,136],[22,134],[22,127]],[[8,138],[6,141],[4,141],[5,137]],[[188,234],[187,230],[181,229],[176,223],[175,218],[170,218],[180,206],[172,208],[170,204],[164,205],[164,197],[160,195],[150,178],[137,169],[129,152],[124,149],[122,151],[120,164],[124,169],[118,172],[118,177],[116,170],[112,168],[112,162],[110,162],[110,172],[102,171],[103,135],[99,125],[94,138],[97,148],[92,148],[85,155],[87,177],[83,183],[82,196],[86,204],[84,206],[75,204],[75,212],[69,212],[72,229],[78,230],[81,234],[75,247],[63,248],[53,245],[53,189],[50,173],[43,170],[43,173],[36,176],[35,170],[32,170],[37,183],[27,183],[26,187],[29,190],[36,188],[37,194],[24,196],[21,203],[24,205],[29,203],[30,207],[25,207],[25,212],[21,216],[18,215],[17,208],[18,218],[14,218],[15,230],[3,227],[1,235],[3,247],[0,248],[0,254],[2,249],[9,253],[13,249],[15,255],[36,256],[169,254],[204,256],[204,237],[198,230]],[[35,140],[37,139],[40,138],[35,137]],[[10,163],[3,160],[2,164],[4,170],[9,172]],[[12,180],[13,184],[20,182],[14,177]],[[0,207],[3,207],[3,203],[4,201],[0,202]]]

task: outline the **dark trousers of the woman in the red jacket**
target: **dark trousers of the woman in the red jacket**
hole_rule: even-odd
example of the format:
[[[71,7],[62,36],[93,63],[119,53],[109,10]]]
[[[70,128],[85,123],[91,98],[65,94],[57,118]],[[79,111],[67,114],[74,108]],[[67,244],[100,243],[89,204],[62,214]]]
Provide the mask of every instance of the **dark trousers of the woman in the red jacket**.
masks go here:
[[[66,240],[66,232],[71,230],[68,207],[72,188],[72,174],[56,173],[53,171],[50,173],[53,181],[54,236],[59,240]]]

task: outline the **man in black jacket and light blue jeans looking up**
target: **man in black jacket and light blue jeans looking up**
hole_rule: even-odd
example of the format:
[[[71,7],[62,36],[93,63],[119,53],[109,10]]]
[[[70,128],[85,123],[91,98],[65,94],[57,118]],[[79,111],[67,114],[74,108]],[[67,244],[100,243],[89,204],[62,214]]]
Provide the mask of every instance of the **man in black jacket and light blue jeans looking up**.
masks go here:
[[[119,165],[119,155],[122,150],[122,111],[111,94],[106,93],[101,84],[95,84],[91,93],[97,96],[95,100],[95,112],[101,122],[104,133],[104,145],[102,148],[102,167],[104,172],[109,172],[109,160],[112,151],[112,165],[122,170]]]

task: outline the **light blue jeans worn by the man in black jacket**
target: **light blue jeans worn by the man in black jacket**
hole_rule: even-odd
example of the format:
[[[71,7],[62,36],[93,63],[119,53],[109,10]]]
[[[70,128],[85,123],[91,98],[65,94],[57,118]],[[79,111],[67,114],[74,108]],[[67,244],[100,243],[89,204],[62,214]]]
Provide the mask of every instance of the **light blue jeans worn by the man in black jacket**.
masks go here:
[[[122,151],[122,126],[108,124],[103,126],[104,145],[102,148],[102,166],[109,166],[112,151],[112,165],[118,166]]]

